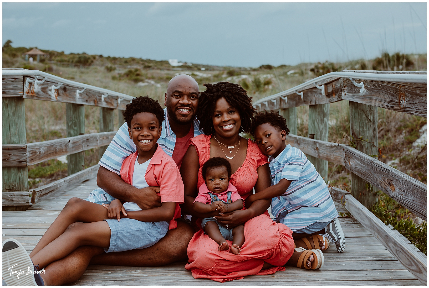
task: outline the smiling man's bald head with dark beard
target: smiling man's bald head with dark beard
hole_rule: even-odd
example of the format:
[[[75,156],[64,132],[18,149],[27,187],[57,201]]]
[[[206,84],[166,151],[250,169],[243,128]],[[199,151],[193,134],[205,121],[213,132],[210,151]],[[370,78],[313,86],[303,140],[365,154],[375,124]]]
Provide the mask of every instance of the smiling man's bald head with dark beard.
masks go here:
[[[195,79],[186,74],[173,77],[168,83],[164,103],[169,121],[190,124],[198,109],[198,98],[199,86]]]

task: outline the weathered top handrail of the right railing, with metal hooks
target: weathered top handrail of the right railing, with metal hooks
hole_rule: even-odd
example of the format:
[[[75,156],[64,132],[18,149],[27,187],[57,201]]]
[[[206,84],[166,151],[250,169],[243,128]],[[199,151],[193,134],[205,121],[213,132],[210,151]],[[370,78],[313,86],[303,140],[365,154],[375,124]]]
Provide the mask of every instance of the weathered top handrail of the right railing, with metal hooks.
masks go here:
[[[384,73],[328,73],[257,100],[253,106],[263,111],[350,100],[426,117],[426,71],[415,71],[416,73],[410,74],[378,72]],[[360,88],[356,87],[350,78],[355,82],[363,82],[363,93],[360,93]],[[325,93],[322,94],[322,90],[316,85],[324,86]],[[302,92],[302,97],[297,92]]]

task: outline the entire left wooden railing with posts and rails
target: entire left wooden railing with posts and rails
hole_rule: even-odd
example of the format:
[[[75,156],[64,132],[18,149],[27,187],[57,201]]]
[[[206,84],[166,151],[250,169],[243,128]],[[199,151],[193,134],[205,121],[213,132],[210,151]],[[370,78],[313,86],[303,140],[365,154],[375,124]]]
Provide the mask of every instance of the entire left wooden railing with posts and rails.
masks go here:
[[[3,210],[25,210],[44,197],[93,178],[99,165],[85,170],[85,150],[99,148],[101,157],[115,136],[114,109],[130,103],[130,95],[70,81],[45,72],[3,69]],[[67,138],[27,143],[24,99],[66,103]],[[100,107],[100,133],[85,134],[85,106]],[[27,166],[67,156],[69,176],[28,189]],[[29,197],[31,194],[31,200]]]

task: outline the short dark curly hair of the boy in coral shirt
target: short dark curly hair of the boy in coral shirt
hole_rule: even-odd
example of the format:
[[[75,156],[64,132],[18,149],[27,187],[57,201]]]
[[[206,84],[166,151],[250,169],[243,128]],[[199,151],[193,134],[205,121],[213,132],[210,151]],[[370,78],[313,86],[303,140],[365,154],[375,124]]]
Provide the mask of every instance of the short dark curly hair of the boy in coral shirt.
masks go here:
[[[130,104],[127,104],[125,110],[122,112],[128,127],[131,127],[131,120],[133,119],[134,115],[142,112],[155,114],[158,121],[160,122],[160,125],[165,120],[164,110],[161,108],[161,105],[158,103],[158,101],[153,100],[149,96],[140,96],[134,98]]]

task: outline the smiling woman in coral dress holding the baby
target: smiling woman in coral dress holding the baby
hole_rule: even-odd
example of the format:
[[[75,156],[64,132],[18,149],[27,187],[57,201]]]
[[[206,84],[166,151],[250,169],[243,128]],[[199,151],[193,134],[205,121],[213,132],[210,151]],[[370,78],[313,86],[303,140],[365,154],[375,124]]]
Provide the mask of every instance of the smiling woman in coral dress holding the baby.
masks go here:
[[[199,231],[191,239],[187,253],[194,278],[218,282],[242,279],[246,275],[273,274],[284,270],[283,265],[293,255],[292,231],[271,220],[267,212],[270,200],[258,200],[243,210],[220,215],[219,212],[198,213],[193,202],[198,188],[204,183],[202,166],[210,158],[226,158],[231,164],[230,183],[246,199],[271,185],[267,158],[251,139],[239,136],[248,132],[254,113],[251,98],[237,84],[219,82],[206,84],[199,98],[197,118],[205,135],[192,138],[184,156],[181,175],[184,183],[184,209],[193,215],[192,222]],[[231,156],[230,156],[231,155]],[[204,234],[202,218],[215,217],[219,224],[232,229],[245,225],[245,243],[240,255],[218,251],[219,244]],[[232,242],[228,242],[232,246]]]

